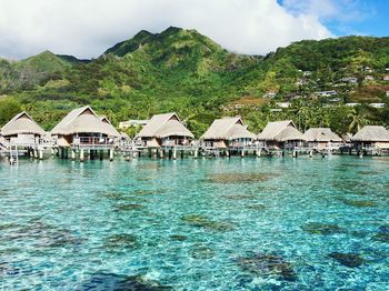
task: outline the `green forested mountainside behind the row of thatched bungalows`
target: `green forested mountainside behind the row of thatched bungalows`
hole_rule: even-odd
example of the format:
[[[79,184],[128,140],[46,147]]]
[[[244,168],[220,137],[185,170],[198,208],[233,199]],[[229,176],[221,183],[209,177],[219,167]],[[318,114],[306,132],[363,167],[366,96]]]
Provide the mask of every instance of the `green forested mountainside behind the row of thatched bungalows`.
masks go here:
[[[140,31],[92,60],[50,51],[0,59],[0,126],[27,110],[50,130],[84,104],[113,124],[176,111],[197,136],[222,116],[241,116],[255,132],[281,119],[340,134],[388,127],[389,38],[305,40],[242,56],[169,28]]]

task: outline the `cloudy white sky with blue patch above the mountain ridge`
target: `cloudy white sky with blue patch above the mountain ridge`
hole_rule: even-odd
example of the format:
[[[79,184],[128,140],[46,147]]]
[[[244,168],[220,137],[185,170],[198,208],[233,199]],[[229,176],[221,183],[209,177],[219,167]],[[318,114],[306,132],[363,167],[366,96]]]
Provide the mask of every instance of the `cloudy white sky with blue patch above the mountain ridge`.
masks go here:
[[[302,39],[387,37],[388,14],[389,0],[0,0],[0,57],[97,58],[142,29],[170,26],[266,54]]]

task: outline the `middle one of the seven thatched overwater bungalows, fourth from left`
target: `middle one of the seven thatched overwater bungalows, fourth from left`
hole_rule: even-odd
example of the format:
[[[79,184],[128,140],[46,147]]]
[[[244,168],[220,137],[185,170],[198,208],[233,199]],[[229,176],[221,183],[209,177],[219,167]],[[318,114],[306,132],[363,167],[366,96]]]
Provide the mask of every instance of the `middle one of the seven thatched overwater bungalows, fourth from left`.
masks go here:
[[[203,147],[210,149],[241,149],[251,146],[255,139],[256,134],[239,117],[215,120],[200,138]]]

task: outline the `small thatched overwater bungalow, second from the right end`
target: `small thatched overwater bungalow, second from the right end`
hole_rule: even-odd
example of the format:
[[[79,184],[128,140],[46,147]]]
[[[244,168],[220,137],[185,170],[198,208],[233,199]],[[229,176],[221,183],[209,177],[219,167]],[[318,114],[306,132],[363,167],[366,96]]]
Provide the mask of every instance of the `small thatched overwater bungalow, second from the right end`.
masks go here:
[[[330,128],[311,128],[303,133],[303,137],[312,150],[335,150],[342,144],[342,139]]]

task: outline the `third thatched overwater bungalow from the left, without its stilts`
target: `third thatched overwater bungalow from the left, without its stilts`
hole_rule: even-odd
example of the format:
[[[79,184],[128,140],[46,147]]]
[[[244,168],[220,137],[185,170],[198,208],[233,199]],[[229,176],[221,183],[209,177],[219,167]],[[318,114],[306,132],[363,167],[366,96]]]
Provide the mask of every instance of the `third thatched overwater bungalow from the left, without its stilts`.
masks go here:
[[[174,112],[153,116],[136,137],[141,146],[154,149],[190,146],[193,138]]]

